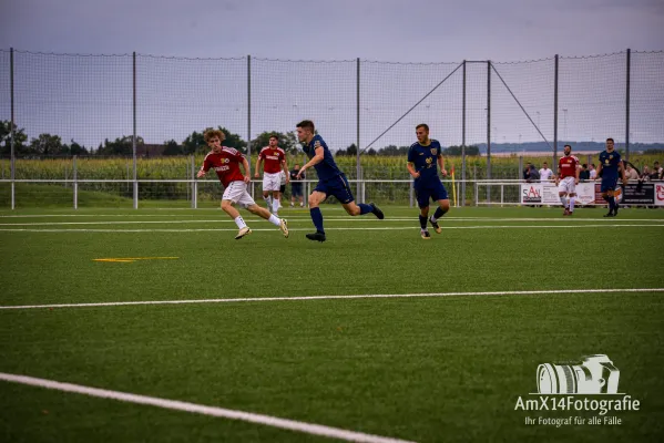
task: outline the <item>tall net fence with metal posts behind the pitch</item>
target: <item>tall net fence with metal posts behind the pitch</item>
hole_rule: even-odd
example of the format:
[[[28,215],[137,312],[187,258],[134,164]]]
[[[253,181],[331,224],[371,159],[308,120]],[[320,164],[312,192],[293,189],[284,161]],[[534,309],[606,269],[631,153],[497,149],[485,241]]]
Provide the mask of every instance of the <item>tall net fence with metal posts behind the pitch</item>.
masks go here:
[[[625,151],[629,136],[630,159],[636,158],[637,166],[653,161],[634,154],[656,153],[664,143],[664,52],[562,56],[558,73],[555,58],[387,63],[13,51],[12,63],[11,53],[0,50],[0,179],[11,176],[13,86],[16,178],[71,181],[76,155],[78,179],[125,181],[89,183],[81,190],[119,198],[133,198],[134,179],[193,179],[207,151],[206,127],[223,127],[226,145],[249,147],[252,167],[265,135],[279,133],[293,166],[307,161],[295,125],[313,120],[351,181],[408,179],[406,153],[419,123],[427,123],[431,137],[449,150],[447,165],[454,166],[456,179],[469,181],[520,179],[525,161],[538,168],[548,162],[555,171],[555,133],[559,155],[571,143],[584,161],[603,150],[606,137]],[[466,158],[459,155],[461,145]],[[314,169],[308,178],[316,179]],[[1,183],[2,195],[8,186]],[[68,183],[27,189],[38,192],[33,186],[71,189]],[[221,196],[218,183],[202,186],[216,189],[203,192],[201,202]],[[259,183],[254,186],[261,190]],[[188,205],[192,187],[141,183],[137,199]],[[354,182],[353,189],[360,200],[409,198],[409,187],[398,182]],[[473,185],[462,185],[460,200],[497,199],[500,193],[494,185],[483,189],[476,195]]]

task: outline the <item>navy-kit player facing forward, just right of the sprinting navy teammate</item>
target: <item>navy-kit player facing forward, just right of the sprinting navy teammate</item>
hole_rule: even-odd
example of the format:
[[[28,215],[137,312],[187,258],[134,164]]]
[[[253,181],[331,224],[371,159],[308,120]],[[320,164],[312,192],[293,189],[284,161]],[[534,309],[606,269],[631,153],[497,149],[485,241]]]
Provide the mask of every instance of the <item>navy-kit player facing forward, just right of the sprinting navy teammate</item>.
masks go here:
[[[442,233],[438,225],[438,219],[450,209],[450,200],[447,195],[447,189],[438,177],[438,168],[440,165],[440,174],[445,177],[445,159],[442,158],[442,150],[437,140],[429,138],[429,126],[419,124],[415,128],[417,143],[410,145],[408,151],[408,172],[415,178],[415,193],[417,195],[417,204],[420,208],[420,235],[425,240],[431,238],[427,229],[427,217],[429,216],[429,199],[438,203],[438,208],[433,216],[429,218],[429,223],[433,226],[437,234]]]

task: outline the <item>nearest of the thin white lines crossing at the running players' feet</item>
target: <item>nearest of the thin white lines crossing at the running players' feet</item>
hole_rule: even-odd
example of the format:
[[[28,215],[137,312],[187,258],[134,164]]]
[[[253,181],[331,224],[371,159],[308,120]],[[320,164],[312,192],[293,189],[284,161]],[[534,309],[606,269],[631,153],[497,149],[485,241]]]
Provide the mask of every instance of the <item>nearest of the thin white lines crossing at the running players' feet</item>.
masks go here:
[[[415,225],[415,224],[413,224]],[[662,228],[664,224],[655,225],[479,225],[479,226],[441,226],[441,229],[575,229],[575,228],[629,228],[651,227]],[[311,230],[311,228],[288,228],[289,231]],[[409,230],[419,226],[384,226],[384,227],[343,227],[325,228],[325,230]],[[252,228],[252,231],[274,231],[277,228]],[[200,229],[33,229],[33,228],[0,228],[0,233],[222,233],[237,231],[235,228],[200,228]]]

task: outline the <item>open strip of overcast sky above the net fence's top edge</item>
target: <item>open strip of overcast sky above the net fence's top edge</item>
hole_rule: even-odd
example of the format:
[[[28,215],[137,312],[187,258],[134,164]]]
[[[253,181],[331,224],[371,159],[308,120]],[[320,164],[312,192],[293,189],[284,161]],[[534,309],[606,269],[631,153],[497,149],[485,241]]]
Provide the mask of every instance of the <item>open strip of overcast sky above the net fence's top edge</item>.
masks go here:
[[[513,61],[664,47],[663,0],[3,0],[0,47]]]

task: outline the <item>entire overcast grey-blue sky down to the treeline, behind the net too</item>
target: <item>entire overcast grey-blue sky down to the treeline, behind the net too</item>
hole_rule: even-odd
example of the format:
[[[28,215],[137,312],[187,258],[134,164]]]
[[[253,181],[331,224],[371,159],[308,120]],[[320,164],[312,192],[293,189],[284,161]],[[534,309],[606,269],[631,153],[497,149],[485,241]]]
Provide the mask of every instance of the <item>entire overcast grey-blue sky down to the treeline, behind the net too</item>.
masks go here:
[[[86,146],[133,131],[131,56],[24,51],[136,51],[136,131],[146,143],[182,142],[217,125],[247,138],[251,54],[252,138],[313,119],[333,148],[358,140],[356,58],[456,62],[361,63],[359,144],[366,148],[374,141],[374,147],[409,145],[421,122],[443,145],[460,144],[462,71],[454,69],[464,59],[498,62],[496,72],[528,112],[492,74],[493,143],[551,142],[554,54],[562,56],[559,142],[613,136],[620,144],[626,133],[625,53],[573,56],[664,49],[664,0],[2,0],[0,10],[0,79],[9,79],[7,50],[21,51],[14,56],[17,124],[30,137],[51,133]],[[548,60],[500,64],[540,59]],[[9,82],[0,81],[0,120],[9,120]],[[472,64],[467,144],[487,141],[487,68]],[[664,53],[634,53],[632,142],[663,142],[662,121]]]

